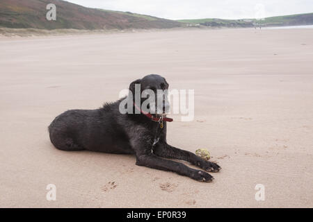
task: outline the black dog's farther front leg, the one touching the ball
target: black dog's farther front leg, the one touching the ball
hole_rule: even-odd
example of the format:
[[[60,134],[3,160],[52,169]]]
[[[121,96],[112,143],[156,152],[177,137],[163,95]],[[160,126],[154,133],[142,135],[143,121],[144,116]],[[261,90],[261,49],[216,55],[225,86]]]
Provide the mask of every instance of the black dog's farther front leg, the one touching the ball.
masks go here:
[[[198,157],[198,155],[195,155],[194,153],[181,150],[166,143],[161,143],[159,144],[159,146],[156,146],[154,148],[154,153],[156,155],[159,155],[160,157],[185,160],[195,166],[200,167],[201,169],[204,169],[204,171],[218,172],[221,169],[220,166],[218,166],[218,164],[214,162],[203,160],[201,157]]]

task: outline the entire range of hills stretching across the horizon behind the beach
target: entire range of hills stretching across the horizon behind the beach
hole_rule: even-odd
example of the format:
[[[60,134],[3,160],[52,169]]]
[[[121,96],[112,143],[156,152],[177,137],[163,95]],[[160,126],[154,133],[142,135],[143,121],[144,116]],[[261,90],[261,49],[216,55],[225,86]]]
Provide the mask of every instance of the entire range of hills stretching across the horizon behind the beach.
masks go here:
[[[46,6],[56,5],[56,21],[47,21]],[[73,28],[81,30],[127,28],[174,28],[186,26],[252,27],[313,24],[313,13],[256,19],[185,19],[173,21],[150,15],[86,8],[61,0],[0,0],[0,27]]]

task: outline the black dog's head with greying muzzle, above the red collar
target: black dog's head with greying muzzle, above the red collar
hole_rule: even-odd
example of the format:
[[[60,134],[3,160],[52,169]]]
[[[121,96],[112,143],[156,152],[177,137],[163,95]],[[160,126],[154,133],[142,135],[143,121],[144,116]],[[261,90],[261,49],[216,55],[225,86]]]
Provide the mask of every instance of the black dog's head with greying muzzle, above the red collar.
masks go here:
[[[141,110],[161,115],[170,110],[168,86],[165,78],[151,74],[134,80],[129,85],[129,93],[132,93],[136,105],[140,103]]]

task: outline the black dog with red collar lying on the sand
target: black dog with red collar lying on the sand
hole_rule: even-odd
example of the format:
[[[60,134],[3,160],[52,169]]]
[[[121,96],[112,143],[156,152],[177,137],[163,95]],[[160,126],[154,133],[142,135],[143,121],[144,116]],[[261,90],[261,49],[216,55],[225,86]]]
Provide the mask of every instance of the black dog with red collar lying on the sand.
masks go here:
[[[143,89],[168,89],[166,79],[159,75],[148,75],[135,80],[129,86],[134,94],[135,84]],[[135,99],[131,99],[133,114],[122,114],[119,110],[123,99],[106,103],[97,110],[68,110],[60,114],[49,126],[52,144],[63,151],[99,151],[104,153],[135,154],[136,164],[165,171],[174,171],[194,180],[211,182],[213,177],[204,171],[217,172],[218,164],[208,162],[197,155],[175,148],[166,143],[166,121],[160,114],[143,112]],[[142,102],[142,101],[141,101]],[[164,103],[162,104],[165,105]],[[138,109],[140,114],[135,114]],[[161,157],[191,162],[204,171]]]

